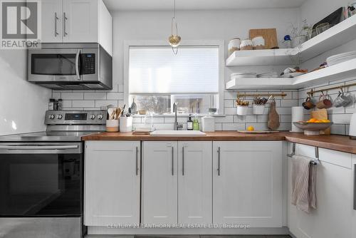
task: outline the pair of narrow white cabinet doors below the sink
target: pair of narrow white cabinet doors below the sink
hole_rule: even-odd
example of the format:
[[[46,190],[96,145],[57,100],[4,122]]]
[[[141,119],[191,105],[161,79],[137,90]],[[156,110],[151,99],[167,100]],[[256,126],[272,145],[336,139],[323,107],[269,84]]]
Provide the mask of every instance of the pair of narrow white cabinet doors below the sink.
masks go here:
[[[211,142],[144,142],[142,222],[211,223]]]

